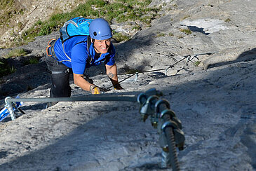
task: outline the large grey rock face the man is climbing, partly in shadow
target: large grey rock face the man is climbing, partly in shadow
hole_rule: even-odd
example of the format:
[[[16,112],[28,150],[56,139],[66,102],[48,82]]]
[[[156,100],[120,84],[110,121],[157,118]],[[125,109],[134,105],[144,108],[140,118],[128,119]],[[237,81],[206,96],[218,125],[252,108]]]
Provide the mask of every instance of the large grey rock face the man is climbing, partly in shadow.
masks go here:
[[[130,76],[124,74],[130,69],[159,71],[140,73],[137,81],[130,77],[121,83],[125,90],[105,95],[161,90],[182,121],[181,170],[256,170],[256,1],[151,3],[159,5],[161,18],[151,27],[115,43],[119,81]],[[23,47],[42,62],[3,78],[2,105],[6,95],[48,97],[43,53],[53,37],[58,33]],[[103,67],[87,72],[96,85],[111,86]],[[73,97],[88,95],[70,83]],[[159,135],[149,120],[141,121],[139,104],[45,105],[26,102],[26,114],[0,123],[0,170],[161,170]]]

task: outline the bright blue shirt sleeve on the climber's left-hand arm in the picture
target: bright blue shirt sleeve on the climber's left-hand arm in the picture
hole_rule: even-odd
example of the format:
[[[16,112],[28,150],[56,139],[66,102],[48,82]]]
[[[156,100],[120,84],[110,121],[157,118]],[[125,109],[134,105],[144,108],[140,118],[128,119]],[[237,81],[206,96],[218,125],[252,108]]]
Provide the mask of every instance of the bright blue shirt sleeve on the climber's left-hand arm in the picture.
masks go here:
[[[86,60],[88,52],[86,43],[79,43],[72,48],[72,70],[74,74],[83,74],[86,70]]]

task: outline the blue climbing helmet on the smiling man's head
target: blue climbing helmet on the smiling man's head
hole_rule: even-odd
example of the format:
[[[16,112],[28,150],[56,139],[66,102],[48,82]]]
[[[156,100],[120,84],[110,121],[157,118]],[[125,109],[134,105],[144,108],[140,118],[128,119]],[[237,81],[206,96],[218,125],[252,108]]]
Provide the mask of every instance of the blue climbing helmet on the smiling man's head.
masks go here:
[[[91,39],[105,40],[112,37],[112,29],[109,23],[103,18],[96,18],[89,25]]]

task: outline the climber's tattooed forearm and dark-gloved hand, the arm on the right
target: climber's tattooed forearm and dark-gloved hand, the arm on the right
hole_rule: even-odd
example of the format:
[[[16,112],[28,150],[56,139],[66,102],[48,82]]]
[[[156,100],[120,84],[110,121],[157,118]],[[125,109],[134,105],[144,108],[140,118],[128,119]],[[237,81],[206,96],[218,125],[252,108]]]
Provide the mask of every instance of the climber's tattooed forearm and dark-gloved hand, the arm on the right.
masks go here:
[[[112,82],[114,88],[120,90],[123,89],[120,84],[119,80],[117,78],[117,69],[116,69],[116,64],[113,64],[112,66],[105,65],[106,70],[107,70],[107,76],[109,77],[110,81]]]

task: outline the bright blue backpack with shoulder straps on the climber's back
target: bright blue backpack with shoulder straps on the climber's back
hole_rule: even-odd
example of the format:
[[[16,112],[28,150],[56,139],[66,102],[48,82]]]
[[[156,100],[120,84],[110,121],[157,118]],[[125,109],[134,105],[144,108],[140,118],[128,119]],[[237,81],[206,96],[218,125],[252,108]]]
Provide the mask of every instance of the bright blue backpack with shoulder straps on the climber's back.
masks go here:
[[[89,36],[89,25],[93,19],[88,18],[72,18],[64,23],[60,28],[60,40],[62,41],[63,52],[65,53],[63,43],[74,36],[87,36],[87,51],[88,51],[88,62],[92,62],[90,57],[89,47],[90,47],[90,36]],[[79,42],[81,43],[81,42]],[[71,60],[71,58],[65,53],[65,55]]]

